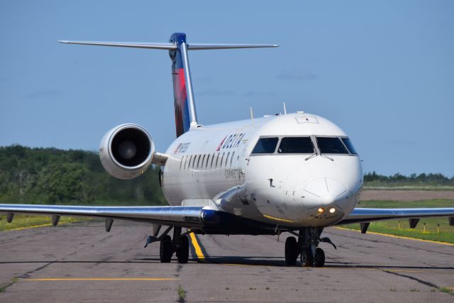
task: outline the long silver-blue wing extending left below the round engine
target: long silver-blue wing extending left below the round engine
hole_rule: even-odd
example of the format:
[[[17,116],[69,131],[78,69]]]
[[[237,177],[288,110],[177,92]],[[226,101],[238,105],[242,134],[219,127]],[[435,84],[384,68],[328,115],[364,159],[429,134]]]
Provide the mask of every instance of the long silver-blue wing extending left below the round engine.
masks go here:
[[[202,206],[69,206],[39,204],[0,204],[0,214],[6,213],[7,220],[13,214],[32,214],[52,216],[57,224],[60,216],[80,216],[102,219],[121,219],[145,221],[155,224],[201,227],[210,210]]]

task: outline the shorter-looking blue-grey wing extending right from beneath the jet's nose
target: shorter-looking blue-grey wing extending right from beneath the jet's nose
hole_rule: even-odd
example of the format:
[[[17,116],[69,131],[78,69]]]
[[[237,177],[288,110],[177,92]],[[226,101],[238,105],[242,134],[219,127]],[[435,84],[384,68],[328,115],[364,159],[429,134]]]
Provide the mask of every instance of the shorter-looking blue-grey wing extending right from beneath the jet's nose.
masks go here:
[[[366,223],[391,219],[421,219],[429,217],[449,217],[450,225],[454,225],[454,207],[419,208],[419,209],[362,209],[355,208],[336,225]]]

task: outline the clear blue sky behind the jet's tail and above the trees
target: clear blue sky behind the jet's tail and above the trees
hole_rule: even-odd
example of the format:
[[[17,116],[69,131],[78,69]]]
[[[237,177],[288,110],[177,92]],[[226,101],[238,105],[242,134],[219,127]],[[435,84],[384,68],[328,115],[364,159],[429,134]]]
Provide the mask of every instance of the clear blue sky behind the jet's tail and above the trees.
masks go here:
[[[175,1],[172,1],[175,3]],[[189,3],[190,2],[190,3]],[[97,150],[139,123],[175,138],[170,58],[56,40],[277,43],[189,53],[199,123],[303,110],[364,170],[454,175],[454,1],[0,1],[0,145]]]

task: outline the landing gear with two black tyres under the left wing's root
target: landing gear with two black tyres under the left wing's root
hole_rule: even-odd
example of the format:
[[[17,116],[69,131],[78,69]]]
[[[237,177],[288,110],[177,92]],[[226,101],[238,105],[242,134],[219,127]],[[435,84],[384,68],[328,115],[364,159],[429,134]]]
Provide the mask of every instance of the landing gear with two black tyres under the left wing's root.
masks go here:
[[[167,235],[171,228],[172,226],[167,228],[160,237],[148,236],[145,247],[147,247],[149,243],[160,241],[159,258],[161,263],[169,263],[172,260],[172,255],[174,253],[177,256],[178,263],[187,263],[189,260],[189,238],[187,233],[182,234],[181,227],[174,227],[172,241],[172,238]]]

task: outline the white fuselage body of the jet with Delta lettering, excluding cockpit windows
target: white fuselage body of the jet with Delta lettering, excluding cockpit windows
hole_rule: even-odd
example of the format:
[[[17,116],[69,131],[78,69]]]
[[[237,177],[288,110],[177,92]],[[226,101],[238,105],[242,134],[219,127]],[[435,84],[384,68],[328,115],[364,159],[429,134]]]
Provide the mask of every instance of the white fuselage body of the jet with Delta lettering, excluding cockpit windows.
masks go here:
[[[311,136],[316,154],[253,154],[259,138]],[[162,190],[171,205],[207,206],[282,226],[328,226],[355,207],[358,155],[323,154],[317,137],[346,138],[314,114],[267,116],[200,126],[167,149]],[[279,145],[277,145],[279,147]]]

